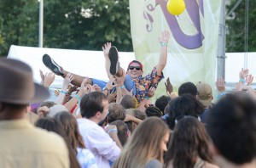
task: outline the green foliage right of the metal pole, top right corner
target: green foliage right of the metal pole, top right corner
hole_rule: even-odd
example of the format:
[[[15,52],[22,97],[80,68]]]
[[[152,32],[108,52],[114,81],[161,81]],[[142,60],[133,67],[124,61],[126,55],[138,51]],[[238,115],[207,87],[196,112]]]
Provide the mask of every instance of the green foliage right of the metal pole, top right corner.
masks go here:
[[[237,0],[231,0],[230,6],[227,6],[227,12],[234,7]],[[245,2],[235,10],[235,19],[226,20],[228,25],[228,34],[226,36],[227,52],[244,52],[245,51]],[[249,26],[248,26],[248,52],[256,51],[256,5],[255,1],[249,0]]]

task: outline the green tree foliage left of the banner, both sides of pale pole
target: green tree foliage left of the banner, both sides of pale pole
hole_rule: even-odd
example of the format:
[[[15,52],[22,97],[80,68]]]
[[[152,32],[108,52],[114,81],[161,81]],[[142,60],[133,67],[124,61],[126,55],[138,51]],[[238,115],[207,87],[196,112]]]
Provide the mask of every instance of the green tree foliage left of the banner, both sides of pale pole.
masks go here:
[[[11,7],[11,8],[10,8]],[[1,0],[0,55],[38,46],[38,0]],[[44,0],[44,48],[132,51],[129,0]]]

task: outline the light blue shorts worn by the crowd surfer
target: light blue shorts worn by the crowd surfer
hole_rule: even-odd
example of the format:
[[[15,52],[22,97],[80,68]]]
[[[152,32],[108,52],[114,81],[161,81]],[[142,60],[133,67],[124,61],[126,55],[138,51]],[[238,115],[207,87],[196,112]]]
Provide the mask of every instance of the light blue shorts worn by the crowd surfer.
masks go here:
[[[98,79],[95,79],[95,78],[91,78],[93,84],[96,84],[98,85],[99,87],[101,87],[102,89],[104,87],[106,87],[107,85],[107,82],[105,81],[101,81],[101,80],[98,80]],[[125,85],[125,88],[130,92],[131,89],[133,89],[132,91],[132,94],[135,95],[136,94],[136,87],[135,87],[135,83],[134,81],[131,80],[131,77],[130,76],[126,76],[125,77],[125,82],[124,82],[124,85]]]

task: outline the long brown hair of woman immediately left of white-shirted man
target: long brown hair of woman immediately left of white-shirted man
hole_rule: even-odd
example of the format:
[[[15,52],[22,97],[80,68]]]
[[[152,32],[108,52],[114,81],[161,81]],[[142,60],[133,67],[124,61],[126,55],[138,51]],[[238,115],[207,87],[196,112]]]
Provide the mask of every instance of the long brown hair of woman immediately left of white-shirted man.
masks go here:
[[[83,137],[79,132],[79,126],[77,120],[68,112],[57,113],[54,118],[59,120],[63,126],[67,137],[69,138],[72,148],[77,154],[77,148],[85,148]]]

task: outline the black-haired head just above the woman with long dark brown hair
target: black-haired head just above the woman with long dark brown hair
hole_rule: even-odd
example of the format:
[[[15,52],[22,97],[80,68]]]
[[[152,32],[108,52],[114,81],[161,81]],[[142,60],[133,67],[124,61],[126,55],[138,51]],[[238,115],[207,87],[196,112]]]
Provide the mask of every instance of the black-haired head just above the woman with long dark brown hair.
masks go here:
[[[189,115],[199,118],[204,111],[203,105],[191,94],[183,94],[172,99],[168,104],[168,108],[167,124],[171,129],[174,128],[175,122],[183,118],[183,116]]]

